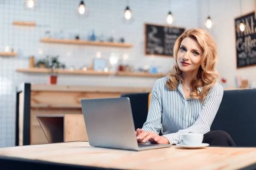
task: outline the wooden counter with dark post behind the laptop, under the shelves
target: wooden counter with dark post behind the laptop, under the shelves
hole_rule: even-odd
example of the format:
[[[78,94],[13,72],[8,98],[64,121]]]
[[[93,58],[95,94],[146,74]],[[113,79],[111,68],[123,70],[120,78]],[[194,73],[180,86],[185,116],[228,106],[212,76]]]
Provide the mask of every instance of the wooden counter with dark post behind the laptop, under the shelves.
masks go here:
[[[37,115],[81,114],[81,99],[114,98],[150,91],[151,88],[23,83],[17,88],[15,145],[48,143]]]

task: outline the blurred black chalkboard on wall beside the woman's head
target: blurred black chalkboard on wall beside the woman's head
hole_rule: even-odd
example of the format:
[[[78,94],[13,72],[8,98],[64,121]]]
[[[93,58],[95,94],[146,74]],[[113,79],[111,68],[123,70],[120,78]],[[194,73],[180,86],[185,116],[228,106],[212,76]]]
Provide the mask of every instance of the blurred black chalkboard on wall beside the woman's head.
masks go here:
[[[177,37],[184,28],[145,24],[145,55],[172,57]]]

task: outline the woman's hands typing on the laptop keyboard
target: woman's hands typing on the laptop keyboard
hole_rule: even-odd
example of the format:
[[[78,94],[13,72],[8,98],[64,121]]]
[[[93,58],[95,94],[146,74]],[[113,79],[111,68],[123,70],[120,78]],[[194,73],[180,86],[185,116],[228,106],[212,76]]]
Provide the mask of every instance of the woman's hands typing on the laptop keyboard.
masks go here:
[[[138,142],[151,142],[157,144],[169,144],[169,140],[163,136],[157,135],[154,132],[145,132],[142,129],[136,130],[136,136]]]

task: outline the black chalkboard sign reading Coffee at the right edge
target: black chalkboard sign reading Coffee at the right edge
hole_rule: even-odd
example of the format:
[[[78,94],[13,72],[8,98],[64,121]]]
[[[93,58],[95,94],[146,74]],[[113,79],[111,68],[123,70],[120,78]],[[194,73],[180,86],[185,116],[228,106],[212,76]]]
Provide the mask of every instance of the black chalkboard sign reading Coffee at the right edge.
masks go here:
[[[239,24],[244,23],[244,31]],[[254,12],[235,19],[236,28],[236,67],[256,65],[256,22]]]

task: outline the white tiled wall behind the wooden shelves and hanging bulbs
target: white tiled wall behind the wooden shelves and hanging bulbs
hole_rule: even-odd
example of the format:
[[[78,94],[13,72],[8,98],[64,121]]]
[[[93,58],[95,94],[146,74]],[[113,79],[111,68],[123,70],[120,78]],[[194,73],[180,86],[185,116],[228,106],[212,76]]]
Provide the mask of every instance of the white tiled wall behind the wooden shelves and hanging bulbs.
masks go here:
[[[170,70],[174,59],[167,57],[150,58],[144,55],[144,23],[166,24],[165,17],[168,0],[130,0],[134,14],[132,24],[124,24],[125,0],[85,0],[90,10],[89,17],[79,17],[76,13],[80,0],[38,0],[39,8],[28,11],[25,0],[0,0],[0,51],[6,45],[14,48],[16,57],[0,57],[0,147],[15,145],[15,91],[21,82],[47,83],[47,75],[17,73],[15,68],[27,68],[28,57],[35,59],[46,55],[59,55],[67,68],[83,66],[100,51],[108,59],[113,53],[119,58],[128,54],[128,62],[135,68],[144,65],[157,65]],[[200,4],[198,0],[169,0],[175,17],[174,26],[193,28],[200,26]],[[13,26],[14,20],[35,21],[37,26]],[[95,30],[96,36],[110,36],[114,31],[116,38],[125,37],[133,48],[94,47],[85,45],[48,44],[40,42],[44,32],[49,30],[52,37],[60,30],[65,38],[79,34],[86,39]],[[42,51],[42,53],[40,53]],[[106,85],[106,86],[149,86],[156,78],[114,77],[90,75],[59,75],[58,84],[62,85]]]

